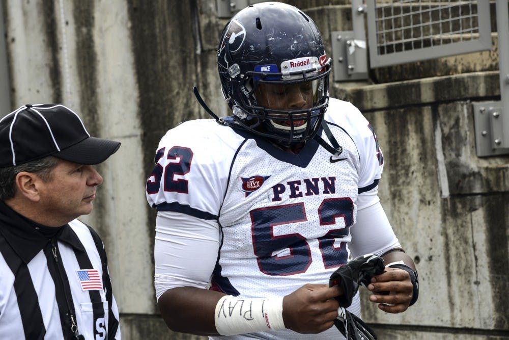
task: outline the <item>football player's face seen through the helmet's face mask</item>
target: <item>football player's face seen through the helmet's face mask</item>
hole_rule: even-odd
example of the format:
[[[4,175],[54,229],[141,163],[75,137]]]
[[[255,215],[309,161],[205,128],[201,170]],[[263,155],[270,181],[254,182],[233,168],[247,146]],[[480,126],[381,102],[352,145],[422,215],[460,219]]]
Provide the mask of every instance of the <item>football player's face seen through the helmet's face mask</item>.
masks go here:
[[[313,106],[314,97],[314,86],[311,81],[289,85],[259,84],[256,90],[259,106],[271,110],[292,111],[309,109]],[[277,123],[282,125],[290,124],[286,120],[280,120]],[[294,127],[304,123],[304,120],[296,120],[294,121]]]

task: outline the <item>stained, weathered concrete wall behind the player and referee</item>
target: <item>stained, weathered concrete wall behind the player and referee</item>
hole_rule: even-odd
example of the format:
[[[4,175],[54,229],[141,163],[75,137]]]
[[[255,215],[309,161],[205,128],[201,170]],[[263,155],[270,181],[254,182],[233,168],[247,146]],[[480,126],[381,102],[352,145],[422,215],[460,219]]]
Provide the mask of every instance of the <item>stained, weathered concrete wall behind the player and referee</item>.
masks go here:
[[[287,2],[315,19],[328,50],[331,31],[352,29],[349,1]],[[92,134],[122,142],[100,166],[104,184],[86,220],[108,251],[123,338],[200,338],[167,331],[158,316],[155,212],[144,187],[166,129],[207,115],[192,86],[227,114],[215,63],[227,20],[213,0],[2,4],[10,78],[0,85],[11,110],[63,102]],[[509,338],[509,157],[477,158],[471,106],[499,100],[493,42],[483,53],[372,70],[366,82],[331,82],[331,95],[375,127],[385,156],[380,196],[420,275],[419,301],[406,313],[364,303],[381,339]]]

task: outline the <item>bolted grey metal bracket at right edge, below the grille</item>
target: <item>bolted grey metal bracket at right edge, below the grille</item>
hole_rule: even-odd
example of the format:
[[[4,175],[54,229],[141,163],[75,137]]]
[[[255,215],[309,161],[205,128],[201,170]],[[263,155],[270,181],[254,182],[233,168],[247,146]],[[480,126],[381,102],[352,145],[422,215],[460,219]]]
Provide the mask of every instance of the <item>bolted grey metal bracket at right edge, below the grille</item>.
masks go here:
[[[476,102],[474,110],[475,149],[478,157],[509,154],[504,147],[502,103],[500,101]],[[505,137],[507,138],[507,137]]]

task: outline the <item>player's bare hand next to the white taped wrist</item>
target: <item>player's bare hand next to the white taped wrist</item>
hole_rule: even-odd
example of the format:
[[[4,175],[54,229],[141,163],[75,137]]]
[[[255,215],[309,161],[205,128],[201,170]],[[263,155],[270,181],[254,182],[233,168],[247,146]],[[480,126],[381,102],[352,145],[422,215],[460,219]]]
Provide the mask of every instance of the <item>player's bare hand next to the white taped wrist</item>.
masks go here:
[[[343,294],[340,287],[305,284],[283,298],[285,327],[298,333],[320,333],[334,326],[337,308],[334,299]]]

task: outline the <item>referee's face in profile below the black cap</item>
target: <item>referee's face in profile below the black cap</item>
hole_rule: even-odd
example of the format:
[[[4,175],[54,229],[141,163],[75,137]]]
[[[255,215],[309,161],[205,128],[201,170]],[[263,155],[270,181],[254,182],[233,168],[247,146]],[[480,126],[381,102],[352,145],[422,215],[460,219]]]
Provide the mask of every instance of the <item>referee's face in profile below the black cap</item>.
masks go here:
[[[48,216],[70,222],[92,212],[96,187],[101,183],[101,175],[91,165],[59,160],[50,179],[42,183],[40,202]]]

